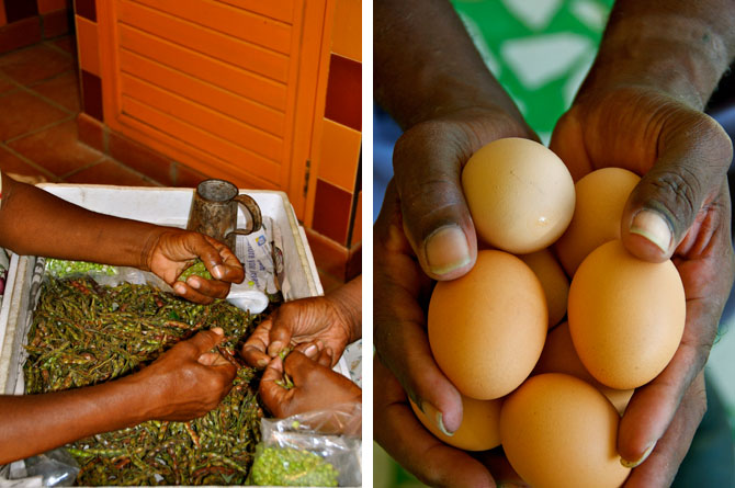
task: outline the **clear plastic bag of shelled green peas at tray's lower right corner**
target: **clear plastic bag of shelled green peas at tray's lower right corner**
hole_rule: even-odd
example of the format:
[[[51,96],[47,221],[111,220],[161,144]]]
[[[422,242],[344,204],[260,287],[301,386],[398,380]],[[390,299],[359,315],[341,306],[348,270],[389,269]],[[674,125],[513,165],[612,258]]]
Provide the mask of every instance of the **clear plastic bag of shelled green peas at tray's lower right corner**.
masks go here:
[[[262,441],[249,481],[256,486],[360,486],[362,406],[261,419]],[[350,434],[343,434],[349,432]]]

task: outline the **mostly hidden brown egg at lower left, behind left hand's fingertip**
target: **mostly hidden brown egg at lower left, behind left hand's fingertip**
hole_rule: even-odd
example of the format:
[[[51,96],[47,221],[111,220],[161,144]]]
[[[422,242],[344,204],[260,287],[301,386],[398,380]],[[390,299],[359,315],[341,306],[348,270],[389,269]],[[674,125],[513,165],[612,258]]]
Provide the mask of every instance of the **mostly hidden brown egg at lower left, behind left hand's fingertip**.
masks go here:
[[[411,409],[429,432],[439,440],[465,451],[487,451],[500,445],[500,407],[502,399],[476,400],[462,395],[462,423],[453,435],[446,435],[414,404]]]

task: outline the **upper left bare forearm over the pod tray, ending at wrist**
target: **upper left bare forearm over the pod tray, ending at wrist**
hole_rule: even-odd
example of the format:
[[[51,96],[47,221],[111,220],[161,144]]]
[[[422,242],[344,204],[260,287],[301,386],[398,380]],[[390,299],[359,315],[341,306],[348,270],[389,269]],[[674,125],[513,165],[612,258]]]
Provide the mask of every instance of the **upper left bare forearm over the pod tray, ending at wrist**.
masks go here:
[[[87,211],[2,174],[0,246],[21,254],[147,269],[161,227]]]

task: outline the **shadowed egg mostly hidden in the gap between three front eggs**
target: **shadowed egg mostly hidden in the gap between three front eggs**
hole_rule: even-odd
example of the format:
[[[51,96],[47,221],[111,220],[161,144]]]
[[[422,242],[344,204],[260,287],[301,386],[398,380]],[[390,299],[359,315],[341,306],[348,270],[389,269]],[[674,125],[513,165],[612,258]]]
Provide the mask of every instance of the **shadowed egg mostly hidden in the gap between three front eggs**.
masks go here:
[[[564,373],[589,383],[610,400],[621,416],[635,391],[633,389],[610,388],[589,374],[574,349],[569,324],[566,321],[554,327],[546,336],[544,350],[541,352],[541,358],[539,358],[539,362],[531,374],[543,373]]]

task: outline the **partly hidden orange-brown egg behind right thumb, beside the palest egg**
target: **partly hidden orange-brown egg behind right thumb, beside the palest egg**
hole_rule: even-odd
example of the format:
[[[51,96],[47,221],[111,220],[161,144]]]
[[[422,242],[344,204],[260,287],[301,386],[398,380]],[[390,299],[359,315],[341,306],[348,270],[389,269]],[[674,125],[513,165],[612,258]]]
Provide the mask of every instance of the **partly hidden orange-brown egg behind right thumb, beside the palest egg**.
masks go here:
[[[641,177],[622,168],[602,168],[574,185],[576,202],[569,226],[554,245],[564,270],[574,276],[584,259],[610,240],[620,239],[625,202]]]

